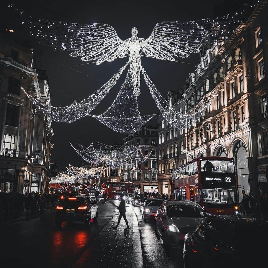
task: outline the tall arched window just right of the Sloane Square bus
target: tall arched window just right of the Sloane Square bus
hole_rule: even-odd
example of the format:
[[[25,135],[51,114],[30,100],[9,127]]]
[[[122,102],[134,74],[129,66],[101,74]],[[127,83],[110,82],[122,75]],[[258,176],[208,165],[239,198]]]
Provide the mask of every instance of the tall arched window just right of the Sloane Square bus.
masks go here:
[[[248,182],[248,154],[246,147],[241,140],[236,143],[233,155],[235,156],[236,161],[238,185],[240,185],[238,188],[240,202],[243,199],[242,189],[245,190],[245,194],[250,195],[250,186]]]

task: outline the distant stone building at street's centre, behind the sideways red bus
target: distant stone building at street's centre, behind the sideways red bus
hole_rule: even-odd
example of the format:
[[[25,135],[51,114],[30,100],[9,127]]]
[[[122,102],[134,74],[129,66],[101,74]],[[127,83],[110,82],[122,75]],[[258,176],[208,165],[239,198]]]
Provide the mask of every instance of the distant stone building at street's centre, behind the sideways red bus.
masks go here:
[[[124,138],[124,145],[131,146],[139,144],[141,150],[137,150],[125,163],[120,165],[120,181],[133,182],[135,191],[158,192],[157,184],[157,128],[143,127]],[[148,155],[146,161],[142,162],[144,155]]]

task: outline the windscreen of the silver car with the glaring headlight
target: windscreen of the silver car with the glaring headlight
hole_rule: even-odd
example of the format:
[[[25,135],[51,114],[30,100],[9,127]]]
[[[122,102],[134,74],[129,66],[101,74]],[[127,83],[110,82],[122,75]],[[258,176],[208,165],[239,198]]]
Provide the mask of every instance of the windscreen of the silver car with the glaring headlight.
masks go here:
[[[204,218],[207,214],[198,206],[192,205],[169,205],[168,217]]]

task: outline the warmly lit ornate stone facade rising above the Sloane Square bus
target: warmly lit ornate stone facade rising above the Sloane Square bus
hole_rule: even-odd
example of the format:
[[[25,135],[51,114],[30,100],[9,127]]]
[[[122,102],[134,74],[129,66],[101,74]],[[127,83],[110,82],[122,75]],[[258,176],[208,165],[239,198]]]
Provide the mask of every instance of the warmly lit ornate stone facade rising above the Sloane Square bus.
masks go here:
[[[241,23],[228,38],[219,39],[209,48],[202,47],[200,61],[195,72],[187,77],[184,88],[168,94],[173,101],[170,104],[183,113],[197,111],[216,94],[203,115],[182,130],[186,150],[183,155],[187,162],[201,156],[234,158],[239,200],[243,198],[243,190],[249,196],[251,193],[259,196],[260,191],[268,193],[267,12],[267,1],[260,1],[248,21]],[[159,116],[161,127],[162,121]],[[167,131],[165,124],[163,131],[158,128],[159,141],[161,135],[158,150],[171,146],[167,142]],[[163,155],[165,153],[168,155],[166,148]]]

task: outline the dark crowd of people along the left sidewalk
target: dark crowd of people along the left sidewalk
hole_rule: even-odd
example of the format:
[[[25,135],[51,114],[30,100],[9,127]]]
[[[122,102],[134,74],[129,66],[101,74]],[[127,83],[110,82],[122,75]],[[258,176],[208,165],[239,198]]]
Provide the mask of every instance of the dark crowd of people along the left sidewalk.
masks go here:
[[[47,207],[55,207],[58,195],[53,192],[0,192],[0,215],[3,220],[8,218],[18,218],[23,212],[27,215],[40,209],[41,218],[43,211]]]

